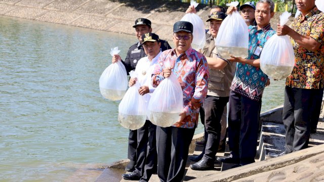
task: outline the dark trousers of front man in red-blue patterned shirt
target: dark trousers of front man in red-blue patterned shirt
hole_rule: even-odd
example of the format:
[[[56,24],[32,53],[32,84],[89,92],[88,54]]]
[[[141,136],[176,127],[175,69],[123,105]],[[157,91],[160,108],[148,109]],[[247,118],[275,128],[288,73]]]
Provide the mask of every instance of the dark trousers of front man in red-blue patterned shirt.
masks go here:
[[[156,127],[157,174],[160,181],[182,180],[195,128]]]

